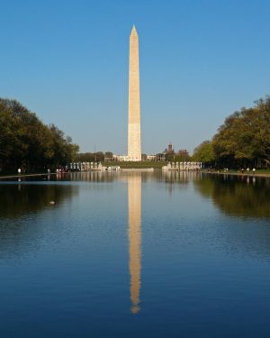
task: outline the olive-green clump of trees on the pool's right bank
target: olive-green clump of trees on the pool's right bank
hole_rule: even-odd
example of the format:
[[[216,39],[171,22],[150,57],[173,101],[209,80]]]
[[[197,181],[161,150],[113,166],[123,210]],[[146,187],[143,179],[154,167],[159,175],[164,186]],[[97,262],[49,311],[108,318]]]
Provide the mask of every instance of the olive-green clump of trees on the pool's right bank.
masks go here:
[[[269,168],[270,97],[230,114],[211,141],[195,148],[193,160],[217,168]]]

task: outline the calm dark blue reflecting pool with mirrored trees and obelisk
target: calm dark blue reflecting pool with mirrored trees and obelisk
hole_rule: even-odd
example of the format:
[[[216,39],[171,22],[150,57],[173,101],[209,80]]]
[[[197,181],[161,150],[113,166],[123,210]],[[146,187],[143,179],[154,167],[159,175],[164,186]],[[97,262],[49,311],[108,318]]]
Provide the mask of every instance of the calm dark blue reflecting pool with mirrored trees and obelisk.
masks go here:
[[[0,181],[1,337],[270,336],[269,179],[49,179]]]

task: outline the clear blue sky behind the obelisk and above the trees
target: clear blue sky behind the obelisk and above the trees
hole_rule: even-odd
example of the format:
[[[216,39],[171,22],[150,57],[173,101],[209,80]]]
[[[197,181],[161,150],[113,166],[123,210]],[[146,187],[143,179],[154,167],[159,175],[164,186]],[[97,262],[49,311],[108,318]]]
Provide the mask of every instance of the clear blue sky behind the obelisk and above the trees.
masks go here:
[[[211,139],[270,94],[269,0],[0,0],[0,96],[81,151],[127,152],[129,36],[139,33],[142,151]]]

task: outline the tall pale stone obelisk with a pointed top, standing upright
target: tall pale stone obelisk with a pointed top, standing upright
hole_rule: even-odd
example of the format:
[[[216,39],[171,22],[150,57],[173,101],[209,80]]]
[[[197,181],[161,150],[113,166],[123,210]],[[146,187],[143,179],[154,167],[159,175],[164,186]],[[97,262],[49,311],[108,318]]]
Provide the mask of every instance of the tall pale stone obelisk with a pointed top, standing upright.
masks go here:
[[[135,26],[130,33],[128,160],[141,160],[139,103],[139,37]]]

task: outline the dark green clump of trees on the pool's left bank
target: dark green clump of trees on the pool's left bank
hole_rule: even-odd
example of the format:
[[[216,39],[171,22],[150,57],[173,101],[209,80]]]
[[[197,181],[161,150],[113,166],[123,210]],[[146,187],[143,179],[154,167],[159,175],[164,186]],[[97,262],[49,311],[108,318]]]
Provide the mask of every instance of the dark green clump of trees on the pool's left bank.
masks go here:
[[[16,100],[0,98],[0,171],[43,171],[75,160],[79,147]]]

